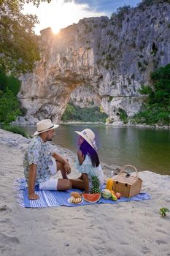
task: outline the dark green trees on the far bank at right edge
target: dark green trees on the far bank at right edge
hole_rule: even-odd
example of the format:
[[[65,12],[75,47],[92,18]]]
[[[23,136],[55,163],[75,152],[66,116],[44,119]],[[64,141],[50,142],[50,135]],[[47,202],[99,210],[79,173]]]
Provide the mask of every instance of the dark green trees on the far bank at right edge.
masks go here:
[[[151,73],[152,88],[142,86],[141,94],[147,95],[142,111],[131,120],[137,124],[170,124],[170,64]]]

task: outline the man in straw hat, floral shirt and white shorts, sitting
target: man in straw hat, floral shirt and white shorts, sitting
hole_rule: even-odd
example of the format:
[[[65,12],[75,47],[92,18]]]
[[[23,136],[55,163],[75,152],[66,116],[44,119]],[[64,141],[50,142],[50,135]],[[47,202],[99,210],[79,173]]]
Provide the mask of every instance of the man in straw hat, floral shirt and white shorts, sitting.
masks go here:
[[[67,178],[71,172],[69,162],[59,154],[50,151],[50,143],[55,135],[57,124],[50,119],[43,119],[36,124],[37,135],[26,149],[23,159],[24,176],[28,184],[28,198],[39,199],[35,193],[35,186],[45,190],[66,190],[71,189],[72,182]],[[52,178],[61,170],[63,178]]]

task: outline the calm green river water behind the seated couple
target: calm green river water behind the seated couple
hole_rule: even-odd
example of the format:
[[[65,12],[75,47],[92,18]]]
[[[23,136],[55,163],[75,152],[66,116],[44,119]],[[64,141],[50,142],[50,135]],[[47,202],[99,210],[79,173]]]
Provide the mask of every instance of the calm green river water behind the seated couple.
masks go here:
[[[151,170],[170,175],[170,131],[136,127],[106,127],[104,124],[60,124],[53,142],[77,152],[74,130],[90,128],[96,134],[101,162],[107,165],[134,165],[138,170]],[[25,127],[32,135],[35,127]]]

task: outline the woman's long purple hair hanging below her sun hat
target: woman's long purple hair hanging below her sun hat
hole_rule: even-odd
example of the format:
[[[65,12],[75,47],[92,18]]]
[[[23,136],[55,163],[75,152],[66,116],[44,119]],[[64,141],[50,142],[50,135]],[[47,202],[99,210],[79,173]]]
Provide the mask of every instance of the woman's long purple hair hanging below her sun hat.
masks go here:
[[[94,167],[98,167],[98,165],[100,164],[98,159],[98,154],[96,150],[92,148],[92,146],[90,146],[90,144],[86,140],[84,140],[83,143],[81,144],[80,150],[82,151],[82,155],[84,157],[86,156],[86,154],[90,156],[91,164]]]

